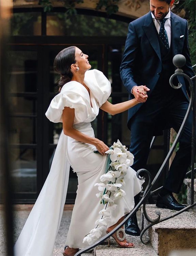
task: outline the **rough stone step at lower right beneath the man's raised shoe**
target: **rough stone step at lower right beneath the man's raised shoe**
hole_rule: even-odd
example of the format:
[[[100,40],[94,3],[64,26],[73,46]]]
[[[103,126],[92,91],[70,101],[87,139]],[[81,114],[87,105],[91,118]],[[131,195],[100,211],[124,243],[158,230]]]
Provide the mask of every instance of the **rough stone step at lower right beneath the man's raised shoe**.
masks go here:
[[[161,219],[174,214],[176,211],[157,208],[154,204],[147,204],[146,210],[150,218],[155,219],[156,210],[160,210]],[[150,223],[146,220],[143,209],[142,226]],[[183,212],[174,218],[152,226],[144,234],[144,240],[150,238],[152,248],[159,256],[167,256],[173,250],[185,250],[196,248],[196,212]]]

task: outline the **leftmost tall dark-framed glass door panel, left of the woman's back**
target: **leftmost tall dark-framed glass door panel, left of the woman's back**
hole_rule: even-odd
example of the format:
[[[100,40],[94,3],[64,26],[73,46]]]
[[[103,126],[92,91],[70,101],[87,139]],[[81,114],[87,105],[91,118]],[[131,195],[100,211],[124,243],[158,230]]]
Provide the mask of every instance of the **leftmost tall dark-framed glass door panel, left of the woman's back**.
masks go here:
[[[38,70],[37,49],[15,50],[8,53],[11,87],[10,143],[11,174],[15,198],[35,199],[37,193],[37,114]]]

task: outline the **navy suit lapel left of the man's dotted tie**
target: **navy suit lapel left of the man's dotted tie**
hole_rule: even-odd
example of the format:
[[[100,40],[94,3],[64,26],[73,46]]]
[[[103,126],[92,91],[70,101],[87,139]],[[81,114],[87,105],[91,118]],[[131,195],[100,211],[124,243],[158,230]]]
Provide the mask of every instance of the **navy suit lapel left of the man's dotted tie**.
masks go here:
[[[156,54],[158,55],[158,57],[161,61],[159,40],[157,38],[157,31],[154,26],[154,22],[152,20],[151,12],[149,12],[146,15],[145,23],[144,23],[144,26],[142,26],[142,28],[144,29],[150,44],[152,45],[154,51],[156,52]]]

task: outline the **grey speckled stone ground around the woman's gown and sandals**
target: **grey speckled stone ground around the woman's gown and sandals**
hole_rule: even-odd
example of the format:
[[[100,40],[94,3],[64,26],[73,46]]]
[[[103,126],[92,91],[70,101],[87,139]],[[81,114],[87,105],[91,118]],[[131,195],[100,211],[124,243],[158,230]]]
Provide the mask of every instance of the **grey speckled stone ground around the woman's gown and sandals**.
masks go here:
[[[1,213],[1,222],[0,222],[0,256],[5,256],[5,233],[3,231],[3,214]],[[16,242],[19,233],[22,227],[25,224],[25,221],[29,215],[29,210],[15,211],[14,212],[14,242]],[[70,220],[71,220],[72,211],[67,210],[63,212],[63,217],[61,221],[61,225],[59,228],[59,232],[57,235],[57,239],[55,242],[55,248],[53,256],[62,256],[62,251],[65,245],[66,234],[69,228]],[[144,245],[140,242],[139,237],[131,237],[127,236],[127,240],[134,242],[134,248],[118,248],[115,241],[111,239],[111,246],[107,246],[107,242],[104,242],[103,245],[96,247],[96,255],[97,256],[156,256],[156,254],[152,251],[150,245]],[[21,255],[23,256],[23,255]],[[36,255],[39,256],[39,255]],[[43,256],[43,255],[42,255]],[[48,256],[48,255],[45,255]],[[93,256],[93,253],[82,254],[82,256]]]

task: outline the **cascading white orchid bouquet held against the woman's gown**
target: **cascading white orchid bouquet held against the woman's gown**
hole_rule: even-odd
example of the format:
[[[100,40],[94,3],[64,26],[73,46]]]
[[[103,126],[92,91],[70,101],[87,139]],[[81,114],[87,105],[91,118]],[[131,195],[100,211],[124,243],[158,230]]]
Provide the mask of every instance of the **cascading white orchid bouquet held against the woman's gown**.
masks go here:
[[[96,227],[85,236],[83,243],[93,244],[101,237],[103,231],[107,230],[111,219],[111,211],[117,207],[115,200],[119,200],[126,195],[122,189],[125,186],[124,176],[129,166],[133,165],[134,156],[127,151],[126,146],[122,145],[119,140],[105,153],[109,154],[110,158],[108,170],[101,175],[101,183],[94,185],[98,186],[100,193],[97,193],[96,196],[101,199],[100,203],[104,205],[104,208],[99,212],[102,217],[95,222]]]

